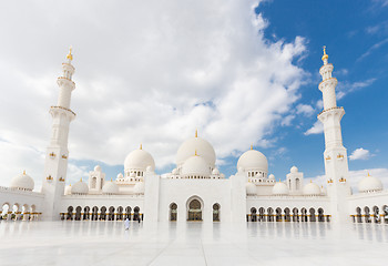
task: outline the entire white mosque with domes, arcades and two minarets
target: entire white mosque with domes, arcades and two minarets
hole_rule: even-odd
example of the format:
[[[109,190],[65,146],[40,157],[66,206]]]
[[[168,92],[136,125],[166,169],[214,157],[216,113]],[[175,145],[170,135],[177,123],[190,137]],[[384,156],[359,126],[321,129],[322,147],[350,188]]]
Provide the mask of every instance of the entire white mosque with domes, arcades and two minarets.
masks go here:
[[[381,181],[365,176],[353,194],[347,151],[343,145],[340,121],[344,108],[337,106],[331,76],[333,64],[324,49],[324,110],[318,114],[325,129],[326,187],[304,183],[304,174],[290,167],[284,182],[268,175],[266,156],[251,147],[241,155],[236,174],[226,177],[215,165],[211,143],[195,136],[186,140],[176,153],[176,167],[157,175],[154,158],[142,146],[124,161],[124,172],[105,180],[98,165],[82,178],[65,186],[69,125],[75,119],[70,109],[74,66],[72,53],[58,78],[58,103],[50,108],[52,134],[47,149],[41,192],[25,172],[12,178],[10,187],[0,187],[1,217],[7,221],[122,221],[157,222],[356,222],[388,223],[388,191]]]

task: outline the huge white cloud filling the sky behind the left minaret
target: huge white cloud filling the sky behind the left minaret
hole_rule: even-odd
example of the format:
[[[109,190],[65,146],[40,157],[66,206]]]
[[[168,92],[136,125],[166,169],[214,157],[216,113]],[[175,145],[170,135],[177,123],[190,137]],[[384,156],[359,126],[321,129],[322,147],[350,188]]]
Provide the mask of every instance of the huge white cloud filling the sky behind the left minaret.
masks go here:
[[[264,134],[297,100],[305,73],[292,62],[306,48],[300,37],[292,43],[266,40],[269,22],[254,14],[255,6],[4,2],[0,30],[7,41],[0,50],[7,53],[0,71],[7,92],[0,111],[7,115],[0,116],[0,139],[18,143],[8,151],[20,145],[44,153],[55,76],[72,44],[76,89],[71,108],[78,116],[70,126],[70,158],[122,164],[143,143],[163,167],[174,163],[178,145],[196,127],[219,158],[267,143]],[[0,150],[0,156],[8,151]],[[29,160],[18,153],[0,173],[7,180]],[[35,180],[43,172],[41,161],[31,165]],[[69,170],[69,176],[86,171]]]

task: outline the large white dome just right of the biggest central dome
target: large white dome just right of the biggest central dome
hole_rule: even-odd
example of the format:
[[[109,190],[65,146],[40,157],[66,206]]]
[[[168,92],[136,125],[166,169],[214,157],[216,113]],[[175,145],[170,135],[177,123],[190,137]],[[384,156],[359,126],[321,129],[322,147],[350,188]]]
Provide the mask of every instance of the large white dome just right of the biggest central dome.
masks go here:
[[[268,161],[263,153],[256,150],[249,150],[239,156],[237,162],[237,168],[244,168],[244,171],[263,171],[268,172]]]

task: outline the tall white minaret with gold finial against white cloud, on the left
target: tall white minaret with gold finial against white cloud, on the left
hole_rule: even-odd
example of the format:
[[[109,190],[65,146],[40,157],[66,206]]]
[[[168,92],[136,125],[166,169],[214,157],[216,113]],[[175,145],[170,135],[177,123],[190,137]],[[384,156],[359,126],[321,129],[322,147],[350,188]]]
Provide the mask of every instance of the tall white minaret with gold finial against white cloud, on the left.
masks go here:
[[[44,219],[60,218],[61,197],[64,193],[64,182],[68,170],[68,139],[69,125],[75,119],[75,113],[70,110],[71,92],[75,89],[72,81],[74,66],[71,64],[73,55],[67,55],[62,63],[63,74],[58,78],[59,96],[55,106],[50,108],[52,116],[52,132],[50,144],[47,147],[42,193],[44,194]]]

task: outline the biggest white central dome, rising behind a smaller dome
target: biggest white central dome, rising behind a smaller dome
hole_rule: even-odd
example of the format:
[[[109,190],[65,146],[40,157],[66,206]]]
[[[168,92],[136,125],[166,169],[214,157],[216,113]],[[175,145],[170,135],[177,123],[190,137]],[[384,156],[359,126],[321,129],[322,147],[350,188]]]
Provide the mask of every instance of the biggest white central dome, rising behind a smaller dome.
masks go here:
[[[195,153],[205,160],[207,166],[215,167],[215,152],[213,146],[201,137],[191,137],[181,144],[176,153],[176,165],[180,167]]]

